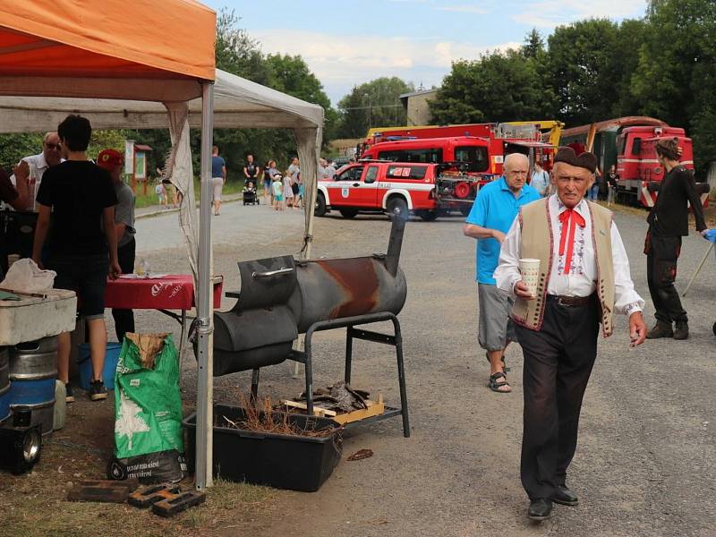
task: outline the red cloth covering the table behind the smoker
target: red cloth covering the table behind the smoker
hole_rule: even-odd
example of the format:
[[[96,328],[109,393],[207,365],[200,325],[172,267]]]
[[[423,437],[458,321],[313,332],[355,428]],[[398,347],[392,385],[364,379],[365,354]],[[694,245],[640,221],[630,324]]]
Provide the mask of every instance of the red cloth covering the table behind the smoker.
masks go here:
[[[223,278],[214,281],[214,307],[221,305]],[[159,278],[117,278],[107,280],[105,307],[128,310],[191,310],[194,282],[191,274]]]

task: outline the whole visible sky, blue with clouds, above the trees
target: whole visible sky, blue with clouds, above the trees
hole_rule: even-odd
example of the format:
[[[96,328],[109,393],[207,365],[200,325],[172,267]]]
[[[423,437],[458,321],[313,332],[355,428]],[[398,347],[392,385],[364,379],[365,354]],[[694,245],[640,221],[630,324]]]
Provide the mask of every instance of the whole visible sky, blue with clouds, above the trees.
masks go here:
[[[516,47],[533,28],[644,15],[646,0],[201,0],[226,6],[265,53],[299,54],[334,104],[355,85],[398,76],[439,86],[457,59]]]

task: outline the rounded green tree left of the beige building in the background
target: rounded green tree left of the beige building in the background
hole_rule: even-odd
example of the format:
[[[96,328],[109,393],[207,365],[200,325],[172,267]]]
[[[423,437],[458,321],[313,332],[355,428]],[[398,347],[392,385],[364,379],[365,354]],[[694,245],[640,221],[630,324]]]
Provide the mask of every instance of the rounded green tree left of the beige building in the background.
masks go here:
[[[354,87],[338,103],[338,137],[359,138],[371,127],[405,125],[407,117],[400,95],[413,90],[413,84],[395,76]]]

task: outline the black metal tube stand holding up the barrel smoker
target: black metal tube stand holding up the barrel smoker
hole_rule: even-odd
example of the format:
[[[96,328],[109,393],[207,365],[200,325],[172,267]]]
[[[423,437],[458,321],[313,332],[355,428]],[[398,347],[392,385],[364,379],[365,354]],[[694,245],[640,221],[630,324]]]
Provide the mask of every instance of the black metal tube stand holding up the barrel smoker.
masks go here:
[[[393,323],[394,335],[381,334],[379,332],[373,332],[371,330],[364,330],[360,328],[354,328],[360,325],[369,324],[372,322],[379,322],[383,320],[389,320]],[[353,340],[362,339],[364,341],[372,341],[374,343],[382,343],[384,345],[392,345],[396,347],[396,358],[397,358],[397,381],[400,387],[400,407],[390,408],[386,407],[386,411],[378,416],[372,416],[361,420],[360,422],[348,423],[345,427],[352,427],[355,425],[362,425],[369,422],[378,422],[392,418],[397,415],[403,416],[403,436],[410,438],[410,422],[408,418],[408,398],[405,390],[405,365],[403,363],[403,337],[400,332],[400,322],[397,317],[388,311],[381,311],[379,313],[368,313],[366,315],[358,315],[355,317],[345,317],[343,319],[335,320],[321,320],[311,325],[306,331],[305,340],[305,351],[292,351],[289,356],[289,360],[294,362],[301,362],[305,365],[306,374],[306,409],[308,415],[313,414],[313,366],[312,366],[312,344],[311,338],[314,332],[320,332],[323,330],[332,330],[335,328],[347,328],[345,335],[345,382],[351,381],[351,366],[353,362]],[[254,384],[253,380],[256,381]],[[258,375],[254,375],[251,382],[251,393],[256,393],[258,389]]]

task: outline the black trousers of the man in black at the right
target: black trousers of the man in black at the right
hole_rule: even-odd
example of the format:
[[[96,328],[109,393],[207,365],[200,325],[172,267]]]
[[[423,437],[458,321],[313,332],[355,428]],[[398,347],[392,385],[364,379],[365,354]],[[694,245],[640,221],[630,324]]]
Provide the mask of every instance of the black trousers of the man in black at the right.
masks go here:
[[[656,320],[665,324],[688,322],[686,311],[674,286],[677,260],[681,253],[681,237],[662,237],[651,232],[646,235],[646,280],[656,310]]]

